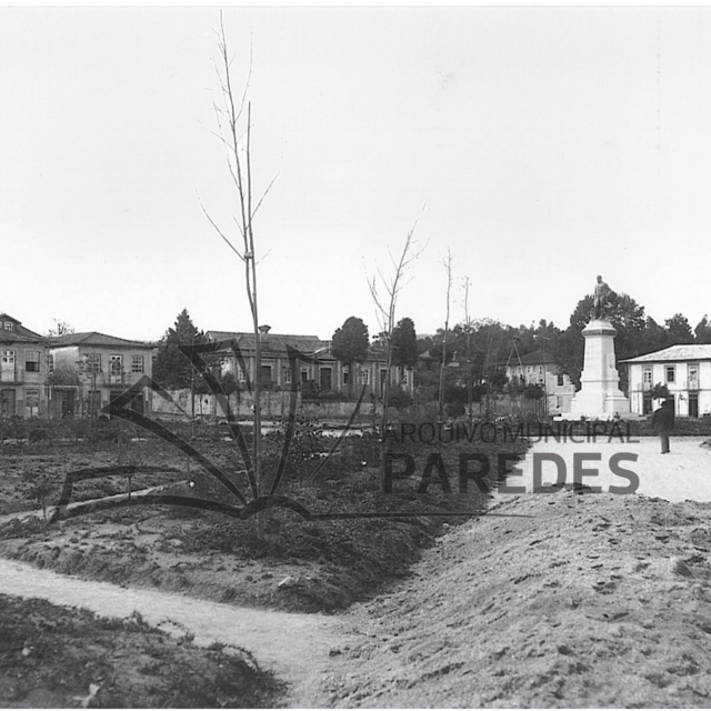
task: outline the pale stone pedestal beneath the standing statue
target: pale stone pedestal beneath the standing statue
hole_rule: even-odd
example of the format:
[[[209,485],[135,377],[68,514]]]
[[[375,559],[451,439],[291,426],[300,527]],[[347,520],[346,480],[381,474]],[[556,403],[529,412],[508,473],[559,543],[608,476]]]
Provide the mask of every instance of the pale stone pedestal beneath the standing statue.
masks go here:
[[[580,375],[581,389],[575,393],[570,417],[609,420],[629,417],[630,401],[619,388],[620,374],[614,363],[614,334],[605,319],[593,319],[583,329],[585,356]]]

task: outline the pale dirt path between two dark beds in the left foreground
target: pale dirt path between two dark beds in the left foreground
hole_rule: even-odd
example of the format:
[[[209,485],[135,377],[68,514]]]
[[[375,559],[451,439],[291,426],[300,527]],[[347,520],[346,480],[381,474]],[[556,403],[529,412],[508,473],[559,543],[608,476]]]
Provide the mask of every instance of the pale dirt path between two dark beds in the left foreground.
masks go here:
[[[136,610],[152,625],[194,642],[218,641],[249,650],[259,664],[291,685],[292,709],[319,708],[319,682],[330,655],[358,643],[342,619],[322,614],[236,608],[152,590],[79,580],[27,563],[0,559],[0,592],[43,598],[82,607],[104,617],[129,617]],[[317,705],[314,705],[317,703]]]

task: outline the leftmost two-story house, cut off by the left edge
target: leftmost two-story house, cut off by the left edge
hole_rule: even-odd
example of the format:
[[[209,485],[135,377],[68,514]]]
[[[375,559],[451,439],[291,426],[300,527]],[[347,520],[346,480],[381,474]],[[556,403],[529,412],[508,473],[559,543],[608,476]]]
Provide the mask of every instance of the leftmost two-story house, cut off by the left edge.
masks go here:
[[[0,412],[38,417],[47,411],[47,339],[0,313]]]

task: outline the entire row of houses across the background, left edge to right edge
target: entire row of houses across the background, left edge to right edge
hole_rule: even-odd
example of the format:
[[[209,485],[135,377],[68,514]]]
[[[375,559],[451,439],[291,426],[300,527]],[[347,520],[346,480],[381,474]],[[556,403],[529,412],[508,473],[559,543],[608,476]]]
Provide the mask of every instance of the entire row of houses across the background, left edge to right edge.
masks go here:
[[[368,359],[351,365],[338,361],[330,341],[316,336],[270,333],[260,329],[261,363],[254,358],[253,333],[208,331],[214,343],[236,343],[221,352],[222,373],[231,373],[240,387],[259,375],[267,389],[289,390],[293,373],[299,388],[317,392],[369,391],[382,394],[384,383],[413,394],[410,369],[388,369],[384,349],[374,343]],[[287,347],[306,358],[292,369]],[[106,407],[142,377],[152,375],[157,344],[107,336],[97,331],[48,338],[31,331],[7,313],[0,313],[0,412],[4,417],[91,414]],[[628,368],[630,409],[640,415],[653,409],[654,387],[663,384],[674,400],[679,417],[711,414],[711,344],[672,346],[654,353],[632,358]],[[575,388],[570,378],[544,351],[520,357],[507,365],[510,382],[543,388],[545,412],[570,411]],[[150,413],[154,394],[144,389],[131,407]]]

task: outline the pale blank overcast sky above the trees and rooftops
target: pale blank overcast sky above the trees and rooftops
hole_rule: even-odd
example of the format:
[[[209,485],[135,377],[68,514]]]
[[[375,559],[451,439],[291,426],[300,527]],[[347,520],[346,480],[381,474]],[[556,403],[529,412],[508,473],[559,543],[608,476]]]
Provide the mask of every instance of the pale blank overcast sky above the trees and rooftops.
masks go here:
[[[568,326],[598,273],[659,322],[711,312],[711,7],[229,3],[252,47],[260,321],[379,330],[368,274],[417,222],[398,319]],[[6,311],[158,339],[249,330],[212,104],[219,4],[0,7]],[[232,232],[233,233],[233,232]]]

